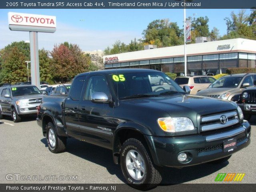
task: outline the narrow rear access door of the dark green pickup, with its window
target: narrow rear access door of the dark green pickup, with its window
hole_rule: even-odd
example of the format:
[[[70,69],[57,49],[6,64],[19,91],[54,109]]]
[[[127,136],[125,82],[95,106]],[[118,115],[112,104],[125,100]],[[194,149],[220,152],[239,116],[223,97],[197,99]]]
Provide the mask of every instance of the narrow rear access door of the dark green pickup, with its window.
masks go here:
[[[86,76],[78,76],[73,80],[70,96],[64,104],[64,118],[68,136],[80,139],[78,106]]]

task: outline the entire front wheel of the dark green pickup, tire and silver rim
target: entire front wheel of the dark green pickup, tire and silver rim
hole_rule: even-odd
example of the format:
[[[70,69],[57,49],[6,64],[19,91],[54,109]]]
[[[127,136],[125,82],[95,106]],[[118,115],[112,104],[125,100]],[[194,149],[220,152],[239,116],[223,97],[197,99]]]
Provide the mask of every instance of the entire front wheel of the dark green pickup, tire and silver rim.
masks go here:
[[[124,142],[120,151],[120,164],[126,181],[134,188],[149,190],[162,181],[146,148],[137,139],[130,138]]]

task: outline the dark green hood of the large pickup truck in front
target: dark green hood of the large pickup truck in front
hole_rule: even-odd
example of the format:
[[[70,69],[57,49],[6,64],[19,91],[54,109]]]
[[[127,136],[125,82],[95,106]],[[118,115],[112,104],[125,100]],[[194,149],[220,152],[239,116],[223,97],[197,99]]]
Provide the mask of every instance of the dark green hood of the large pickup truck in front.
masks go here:
[[[124,100],[124,102],[164,110],[173,117],[189,117],[192,115],[195,117],[196,114],[219,113],[236,110],[237,108],[234,102],[189,94]]]

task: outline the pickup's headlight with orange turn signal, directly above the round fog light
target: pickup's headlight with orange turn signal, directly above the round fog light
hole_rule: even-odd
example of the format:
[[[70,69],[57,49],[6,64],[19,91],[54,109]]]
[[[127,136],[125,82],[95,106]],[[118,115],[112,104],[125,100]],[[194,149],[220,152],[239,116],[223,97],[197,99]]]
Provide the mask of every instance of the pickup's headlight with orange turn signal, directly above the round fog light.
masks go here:
[[[180,132],[194,130],[193,122],[186,117],[165,117],[157,120],[160,128],[166,132]]]

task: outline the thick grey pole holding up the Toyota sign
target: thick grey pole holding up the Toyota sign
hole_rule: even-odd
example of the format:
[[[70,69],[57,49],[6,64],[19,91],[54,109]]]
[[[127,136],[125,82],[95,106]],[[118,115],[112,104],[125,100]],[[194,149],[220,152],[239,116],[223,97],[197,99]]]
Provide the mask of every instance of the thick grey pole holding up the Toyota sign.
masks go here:
[[[30,69],[31,84],[40,89],[39,57],[38,57],[38,32],[30,31]]]

